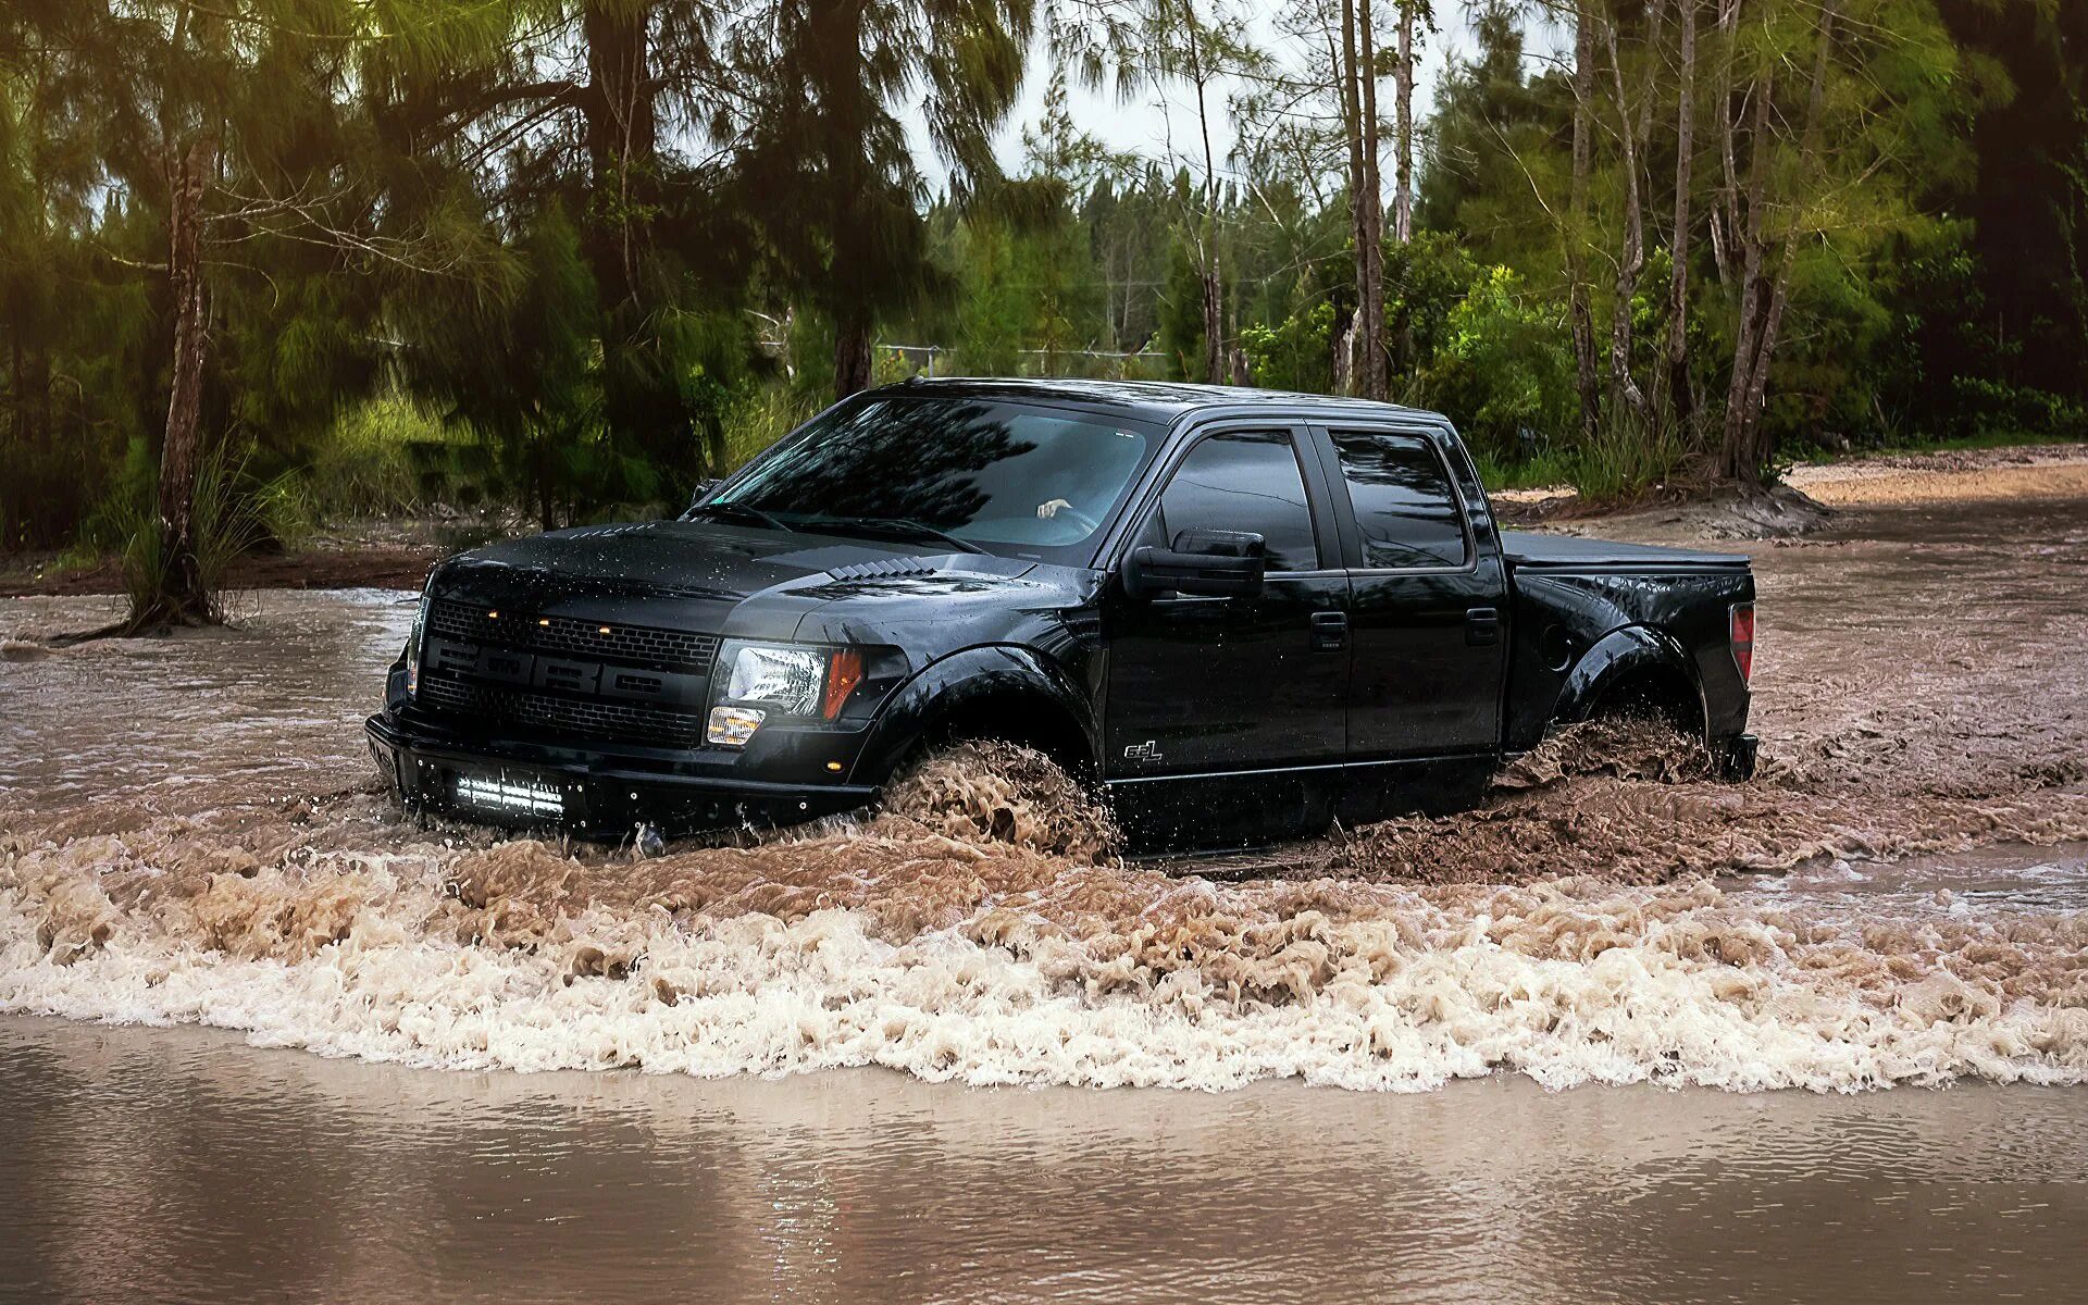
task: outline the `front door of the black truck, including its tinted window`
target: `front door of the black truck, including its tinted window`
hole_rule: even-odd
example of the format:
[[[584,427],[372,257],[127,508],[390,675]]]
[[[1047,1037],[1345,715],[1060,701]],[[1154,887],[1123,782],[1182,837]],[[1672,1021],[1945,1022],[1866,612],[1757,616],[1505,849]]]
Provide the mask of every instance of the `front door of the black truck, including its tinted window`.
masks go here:
[[[1303,438],[1201,436],[1134,537],[1165,547],[1199,528],[1261,535],[1270,570],[1257,595],[1111,587],[1105,773],[1119,812],[1169,825],[1167,841],[1270,837],[1330,810],[1347,752],[1349,578],[1332,518],[1305,489]]]

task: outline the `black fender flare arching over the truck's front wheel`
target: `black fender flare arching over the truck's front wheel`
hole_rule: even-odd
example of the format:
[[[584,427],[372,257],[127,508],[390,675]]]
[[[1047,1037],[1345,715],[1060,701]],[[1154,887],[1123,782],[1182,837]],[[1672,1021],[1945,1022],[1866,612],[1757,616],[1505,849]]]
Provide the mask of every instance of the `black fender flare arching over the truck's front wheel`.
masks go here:
[[[967,710],[1034,708],[1054,727],[1057,752],[1090,773],[1100,758],[1102,729],[1086,693],[1050,660],[1027,647],[967,647],[923,666],[877,712],[850,770],[850,783],[881,785],[923,737]],[[1031,720],[1034,722],[1034,720]],[[1011,729],[1013,735],[1025,733]]]

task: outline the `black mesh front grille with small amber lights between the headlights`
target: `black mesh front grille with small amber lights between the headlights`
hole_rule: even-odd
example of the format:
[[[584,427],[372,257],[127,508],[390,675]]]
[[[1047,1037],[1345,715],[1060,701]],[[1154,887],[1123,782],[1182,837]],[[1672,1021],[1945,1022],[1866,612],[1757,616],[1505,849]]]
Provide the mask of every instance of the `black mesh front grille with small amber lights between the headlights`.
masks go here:
[[[530,733],[695,748],[716,635],[434,601],[422,710]]]

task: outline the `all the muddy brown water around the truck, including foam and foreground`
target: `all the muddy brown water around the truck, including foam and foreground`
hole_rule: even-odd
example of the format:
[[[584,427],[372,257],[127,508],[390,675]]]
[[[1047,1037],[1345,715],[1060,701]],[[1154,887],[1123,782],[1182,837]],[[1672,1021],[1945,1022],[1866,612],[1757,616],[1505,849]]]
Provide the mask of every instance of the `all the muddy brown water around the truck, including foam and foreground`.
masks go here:
[[[399,593],[0,643],[0,1295],[2080,1299],[2088,505],[1746,547],[1756,783],[1247,869],[405,827]]]

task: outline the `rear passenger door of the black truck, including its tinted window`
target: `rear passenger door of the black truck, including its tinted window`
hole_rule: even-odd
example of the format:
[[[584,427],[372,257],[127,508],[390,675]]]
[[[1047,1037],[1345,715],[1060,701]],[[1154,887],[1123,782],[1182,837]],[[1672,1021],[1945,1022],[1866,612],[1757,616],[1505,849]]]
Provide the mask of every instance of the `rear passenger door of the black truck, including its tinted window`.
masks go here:
[[[1485,501],[1426,426],[1313,428],[1349,568],[1355,762],[1491,756],[1501,733],[1508,580]]]

